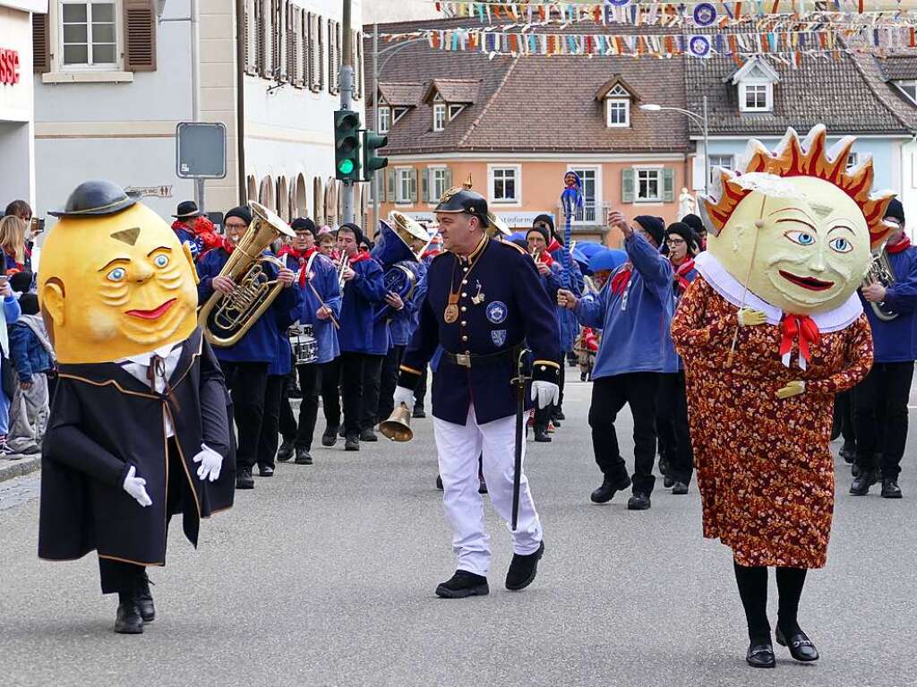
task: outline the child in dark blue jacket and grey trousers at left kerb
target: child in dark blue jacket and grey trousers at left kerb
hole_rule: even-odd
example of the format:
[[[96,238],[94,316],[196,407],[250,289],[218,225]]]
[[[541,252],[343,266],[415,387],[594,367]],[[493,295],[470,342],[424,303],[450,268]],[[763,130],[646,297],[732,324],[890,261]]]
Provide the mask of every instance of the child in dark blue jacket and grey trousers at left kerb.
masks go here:
[[[41,450],[48,424],[48,373],[54,370],[54,349],[39,315],[35,294],[19,296],[22,314],[9,327],[11,358],[18,384],[9,413],[7,444],[15,454]]]

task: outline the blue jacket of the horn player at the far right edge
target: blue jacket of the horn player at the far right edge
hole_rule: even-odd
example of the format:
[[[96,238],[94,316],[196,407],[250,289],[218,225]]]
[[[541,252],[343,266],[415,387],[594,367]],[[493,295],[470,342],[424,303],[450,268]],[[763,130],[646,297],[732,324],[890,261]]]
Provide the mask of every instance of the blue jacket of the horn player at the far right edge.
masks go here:
[[[878,319],[860,294],[863,310],[872,328],[876,362],[917,360],[917,247],[889,253],[895,283],[886,289],[885,305],[899,315],[890,322]]]

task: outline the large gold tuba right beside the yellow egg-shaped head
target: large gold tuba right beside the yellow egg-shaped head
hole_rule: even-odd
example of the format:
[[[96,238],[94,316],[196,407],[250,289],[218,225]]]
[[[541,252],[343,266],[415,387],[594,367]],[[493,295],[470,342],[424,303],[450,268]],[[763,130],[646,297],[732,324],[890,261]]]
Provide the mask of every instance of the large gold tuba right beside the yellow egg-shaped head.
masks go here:
[[[271,279],[264,265],[271,264],[277,269],[286,265],[282,260],[261,253],[275,239],[295,236],[290,227],[264,205],[252,201],[249,206],[253,216],[249,230],[219,273],[235,282],[236,288],[231,294],[215,292],[198,316],[204,338],[221,349],[237,344],[281,293],[283,284]]]

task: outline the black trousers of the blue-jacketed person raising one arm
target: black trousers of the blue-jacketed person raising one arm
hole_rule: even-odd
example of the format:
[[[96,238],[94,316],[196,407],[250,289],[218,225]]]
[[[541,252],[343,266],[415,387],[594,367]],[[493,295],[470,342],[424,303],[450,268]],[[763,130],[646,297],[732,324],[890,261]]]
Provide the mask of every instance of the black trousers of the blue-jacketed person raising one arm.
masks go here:
[[[614,420],[624,404],[634,416],[634,493],[652,493],[656,477],[656,394],[657,372],[629,372],[602,377],[592,382],[589,425],[592,428],[592,450],[595,462],[607,478],[620,481],[627,467],[618,448]]]

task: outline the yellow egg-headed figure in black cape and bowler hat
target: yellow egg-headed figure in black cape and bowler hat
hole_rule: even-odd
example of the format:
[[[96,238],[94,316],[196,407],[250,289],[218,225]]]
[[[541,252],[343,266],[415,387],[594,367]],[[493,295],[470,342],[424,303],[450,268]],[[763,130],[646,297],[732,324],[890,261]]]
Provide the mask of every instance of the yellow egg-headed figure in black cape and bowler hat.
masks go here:
[[[73,191],[42,250],[39,302],[60,381],[44,438],[39,556],[98,552],[116,632],[155,615],[148,566],[171,515],[196,546],[233,503],[228,395],[197,327],[191,251],[116,184]]]

